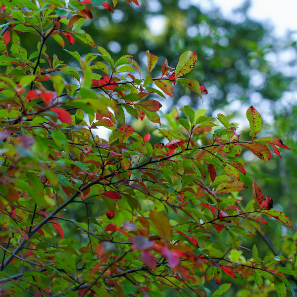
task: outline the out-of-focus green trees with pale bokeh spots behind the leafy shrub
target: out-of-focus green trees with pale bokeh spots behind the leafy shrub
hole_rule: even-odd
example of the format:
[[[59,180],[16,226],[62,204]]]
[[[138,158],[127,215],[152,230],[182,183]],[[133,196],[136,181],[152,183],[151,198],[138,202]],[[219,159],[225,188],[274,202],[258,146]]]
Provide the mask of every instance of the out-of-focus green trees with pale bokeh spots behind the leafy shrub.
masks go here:
[[[203,83],[208,95],[203,95],[202,102],[198,95],[190,94],[188,89],[176,84],[173,99],[167,98],[161,102],[164,113],[170,112],[174,106],[191,105],[207,109],[207,114],[212,116],[222,112],[230,122],[234,121],[241,130],[248,131],[248,123],[243,122],[243,118],[247,107],[253,105],[263,117],[263,135],[279,137],[291,150],[282,150],[282,158],[272,156],[266,163],[245,152],[249,169],[243,182],[249,189],[240,193],[242,203],[246,204],[251,199],[251,178],[254,178],[264,197],[273,199],[274,209],[285,212],[296,228],[296,41],[290,34],[277,38],[271,26],[248,18],[249,1],[236,10],[233,20],[224,19],[215,6],[211,10],[201,11],[199,5],[191,0],[139,0],[139,3],[140,7],[134,3],[129,7],[125,1],[119,0],[114,13],[102,7],[90,6],[93,19],[85,22],[84,29],[93,37],[96,45],[111,53],[114,60],[131,54],[145,69],[145,51],[149,49],[159,57],[152,72],[154,77],[160,75],[164,58],[174,67],[184,51],[197,53],[198,61],[187,78]],[[26,34],[23,35],[22,45],[28,52],[36,50],[36,43],[32,42],[31,37],[26,39]],[[65,48],[81,53],[90,51],[90,47],[79,40],[71,46],[65,43]],[[91,51],[97,52],[96,49]],[[54,53],[65,63],[72,60],[69,53],[51,40],[48,54],[52,56]],[[166,123],[164,119],[161,122]],[[154,130],[146,122],[138,122],[134,127],[142,135]],[[151,140],[160,142],[161,139],[154,136]],[[280,226],[273,219],[263,227],[263,231],[275,251],[293,257],[295,265],[294,232],[290,233],[288,228]],[[262,240],[260,235],[255,235],[254,241],[259,240]],[[272,250],[263,241],[259,255],[267,253],[272,254]],[[238,294],[248,296],[248,292]]]

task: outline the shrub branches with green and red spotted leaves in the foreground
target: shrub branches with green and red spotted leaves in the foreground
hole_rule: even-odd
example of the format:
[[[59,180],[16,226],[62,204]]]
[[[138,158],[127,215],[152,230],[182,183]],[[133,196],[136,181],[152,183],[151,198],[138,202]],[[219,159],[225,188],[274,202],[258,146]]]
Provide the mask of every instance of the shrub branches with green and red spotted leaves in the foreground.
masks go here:
[[[261,259],[257,247],[250,250],[241,239],[261,232],[262,214],[290,228],[291,221],[271,209],[272,199],[263,199],[254,181],[246,206],[237,194],[246,189],[243,149],[268,161],[271,152],[280,156],[278,147],[289,148],[277,137],[256,138],[262,118],[252,106],[248,141],[223,114],[215,119],[190,106],[173,110],[168,128],[157,130],[165,145],[137,134],[127,114],[161,123],[152,94],[172,97],[175,83],[200,97],[207,92],[182,77],[197,55],[184,52],[174,71],[165,59],[155,78],[150,73],[158,57],[149,51],[146,74],[131,55],[114,62],[81,29],[94,6],[112,8],[87,3],[2,0],[1,295],[158,297],[171,287],[216,297],[231,284],[211,292],[206,281],[220,283],[223,272],[259,289],[267,279],[282,297],[287,288],[294,293],[285,274],[296,274],[280,265],[289,260]],[[29,57],[20,34],[41,40]],[[46,43],[64,47],[64,38],[97,51],[67,50],[71,66],[49,57]],[[108,139],[100,127],[110,130]],[[87,222],[77,219],[84,209]]]

